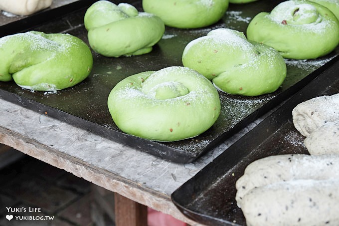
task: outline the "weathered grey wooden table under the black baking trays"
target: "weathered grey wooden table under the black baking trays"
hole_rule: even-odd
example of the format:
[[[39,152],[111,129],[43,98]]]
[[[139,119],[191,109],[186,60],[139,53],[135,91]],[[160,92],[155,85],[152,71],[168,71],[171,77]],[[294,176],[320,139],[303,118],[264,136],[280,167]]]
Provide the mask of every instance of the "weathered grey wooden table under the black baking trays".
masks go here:
[[[2,99],[0,112],[0,143],[115,192],[119,205],[134,205],[139,210],[126,209],[137,219],[145,219],[145,208],[138,206],[142,204],[189,225],[198,224],[177,210],[171,193],[256,124],[197,161],[176,164],[56,120],[48,112],[37,113]],[[116,211],[117,222],[119,215],[126,216],[126,212]]]

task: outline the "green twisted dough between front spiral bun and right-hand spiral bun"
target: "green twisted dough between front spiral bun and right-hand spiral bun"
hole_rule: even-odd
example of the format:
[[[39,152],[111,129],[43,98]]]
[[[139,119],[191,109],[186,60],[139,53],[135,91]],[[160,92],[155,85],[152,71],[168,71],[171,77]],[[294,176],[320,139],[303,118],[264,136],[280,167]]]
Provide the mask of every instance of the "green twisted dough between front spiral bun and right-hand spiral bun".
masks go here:
[[[271,93],[286,77],[284,58],[276,50],[249,42],[242,32],[227,28],[212,30],[188,43],[182,63],[229,94]]]

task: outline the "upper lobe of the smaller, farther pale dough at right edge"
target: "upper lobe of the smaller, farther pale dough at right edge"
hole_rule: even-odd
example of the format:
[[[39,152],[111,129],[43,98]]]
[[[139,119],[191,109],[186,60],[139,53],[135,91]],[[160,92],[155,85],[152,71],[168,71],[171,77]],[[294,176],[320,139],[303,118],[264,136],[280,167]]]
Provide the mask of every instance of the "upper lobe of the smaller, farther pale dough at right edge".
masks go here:
[[[320,96],[298,104],[292,110],[293,124],[305,137],[328,122],[339,120],[339,94]]]

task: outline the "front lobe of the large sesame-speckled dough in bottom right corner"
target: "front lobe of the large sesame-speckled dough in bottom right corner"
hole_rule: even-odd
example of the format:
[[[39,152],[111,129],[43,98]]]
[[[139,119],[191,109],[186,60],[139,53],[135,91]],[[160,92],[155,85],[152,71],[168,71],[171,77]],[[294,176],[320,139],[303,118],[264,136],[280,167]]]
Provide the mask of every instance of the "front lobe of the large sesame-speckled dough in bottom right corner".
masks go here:
[[[243,200],[247,226],[337,226],[339,179],[280,182],[251,190]]]

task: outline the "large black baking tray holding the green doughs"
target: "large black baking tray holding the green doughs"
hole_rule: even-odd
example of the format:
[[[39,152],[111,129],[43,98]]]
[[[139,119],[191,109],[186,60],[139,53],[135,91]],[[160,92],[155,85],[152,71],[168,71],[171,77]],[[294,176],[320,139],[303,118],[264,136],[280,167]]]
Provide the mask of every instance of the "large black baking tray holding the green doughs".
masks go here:
[[[56,93],[32,92],[18,87],[13,82],[0,82],[0,97],[169,161],[192,162],[290,97],[338,61],[339,47],[329,55],[316,60],[286,60],[287,78],[282,87],[272,94],[245,97],[219,92],[222,106],[216,123],[203,134],[182,141],[153,142],[121,132],[114,124],[107,108],[109,92],[127,76],[168,66],[182,66],[182,51],[189,41],[220,27],[245,32],[251,18],[260,11],[270,11],[281,1],[260,0],[241,5],[231,4],[218,23],[201,29],[166,27],[164,37],[148,54],[109,58],[92,51],[93,70],[87,79],[74,87]],[[142,10],[140,0],[125,2],[132,3]],[[88,43],[87,31],[83,25],[85,10],[86,8],[82,8],[73,11],[50,22],[33,26],[32,29],[47,33],[70,33]]]

